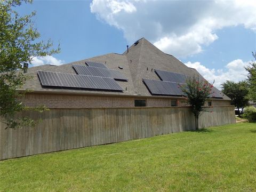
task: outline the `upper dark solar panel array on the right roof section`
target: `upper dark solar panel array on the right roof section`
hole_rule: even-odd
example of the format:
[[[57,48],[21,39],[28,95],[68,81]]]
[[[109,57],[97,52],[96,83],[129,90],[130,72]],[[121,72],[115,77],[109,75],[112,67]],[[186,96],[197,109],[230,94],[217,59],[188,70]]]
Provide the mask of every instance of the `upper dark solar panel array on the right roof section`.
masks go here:
[[[155,69],[156,74],[161,78],[162,81],[185,83],[185,75],[172,73],[169,71],[163,71]]]

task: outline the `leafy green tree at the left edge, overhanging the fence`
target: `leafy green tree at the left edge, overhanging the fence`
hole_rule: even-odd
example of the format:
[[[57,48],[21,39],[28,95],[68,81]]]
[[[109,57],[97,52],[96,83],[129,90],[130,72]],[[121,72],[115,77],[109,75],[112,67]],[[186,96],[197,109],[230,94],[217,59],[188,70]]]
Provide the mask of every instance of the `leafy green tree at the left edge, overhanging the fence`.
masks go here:
[[[33,26],[31,19],[35,15],[20,17],[15,7],[21,3],[32,3],[30,0],[0,0],[0,116],[7,127],[21,127],[32,124],[28,117],[15,119],[17,112],[22,110],[42,111],[45,108],[38,106],[29,108],[19,102],[22,93],[18,92],[25,82],[31,78],[22,73],[22,66],[31,63],[34,57],[43,57],[58,53],[60,48],[51,49],[50,39],[44,43],[38,41],[40,34]]]

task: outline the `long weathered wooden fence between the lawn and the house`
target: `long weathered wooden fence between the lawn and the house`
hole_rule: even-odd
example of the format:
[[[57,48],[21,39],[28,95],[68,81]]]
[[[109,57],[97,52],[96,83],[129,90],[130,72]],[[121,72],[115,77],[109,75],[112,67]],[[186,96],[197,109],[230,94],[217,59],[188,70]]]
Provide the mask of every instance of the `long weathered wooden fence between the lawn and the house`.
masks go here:
[[[209,110],[199,127],[235,123],[234,106]],[[195,129],[189,107],[51,109],[22,115],[42,122],[15,130],[0,123],[0,160]]]

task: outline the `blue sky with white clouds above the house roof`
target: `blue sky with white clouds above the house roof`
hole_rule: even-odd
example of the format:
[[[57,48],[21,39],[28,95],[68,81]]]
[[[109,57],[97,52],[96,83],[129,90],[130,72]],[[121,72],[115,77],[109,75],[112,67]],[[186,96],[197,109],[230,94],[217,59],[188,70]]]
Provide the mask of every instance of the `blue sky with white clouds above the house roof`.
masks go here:
[[[34,1],[41,39],[60,43],[61,53],[32,65],[61,65],[107,53],[123,53],[145,37],[158,49],[195,68],[214,86],[242,81],[256,51],[256,1],[93,0]]]

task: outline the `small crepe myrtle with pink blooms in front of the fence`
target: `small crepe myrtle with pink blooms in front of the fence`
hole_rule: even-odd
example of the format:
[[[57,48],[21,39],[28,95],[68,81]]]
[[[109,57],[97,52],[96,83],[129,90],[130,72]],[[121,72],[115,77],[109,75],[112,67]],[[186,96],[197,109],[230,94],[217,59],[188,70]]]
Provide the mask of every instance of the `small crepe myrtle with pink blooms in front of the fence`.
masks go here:
[[[213,85],[205,79],[199,77],[186,78],[186,84],[179,85],[179,88],[185,93],[187,103],[195,117],[195,129],[198,130],[198,118],[206,111],[203,106],[209,98]]]

